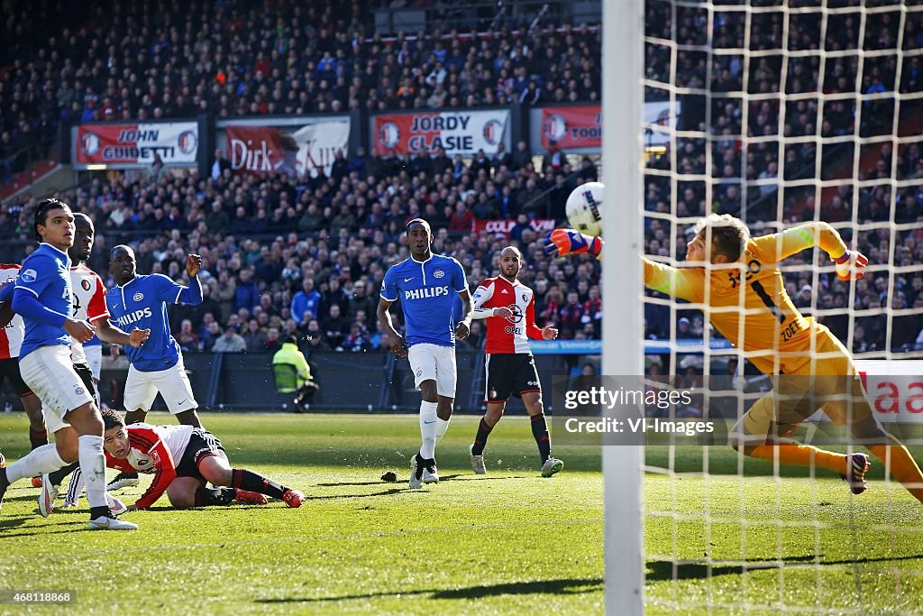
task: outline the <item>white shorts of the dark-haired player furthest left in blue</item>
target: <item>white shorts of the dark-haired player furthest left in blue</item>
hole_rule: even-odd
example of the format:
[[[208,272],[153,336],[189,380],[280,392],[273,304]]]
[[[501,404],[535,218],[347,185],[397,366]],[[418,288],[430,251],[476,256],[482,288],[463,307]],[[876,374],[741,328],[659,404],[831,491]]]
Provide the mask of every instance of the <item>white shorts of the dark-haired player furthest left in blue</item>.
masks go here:
[[[93,402],[86,385],[74,371],[69,346],[40,346],[19,359],[19,373],[42,401],[42,416],[49,432],[70,426],[64,416]]]

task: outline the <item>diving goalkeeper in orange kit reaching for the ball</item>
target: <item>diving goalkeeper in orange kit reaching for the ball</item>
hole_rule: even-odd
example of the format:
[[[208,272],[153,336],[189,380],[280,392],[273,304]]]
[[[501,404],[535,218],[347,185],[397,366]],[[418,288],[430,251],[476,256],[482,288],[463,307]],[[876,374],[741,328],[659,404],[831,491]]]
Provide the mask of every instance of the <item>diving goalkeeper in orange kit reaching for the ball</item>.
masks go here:
[[[785,465],[820,465],[859,494],[866,489],[866,454],[833,453],[787,438],[821,408],[836,425],[848,426],[853,438],[923,502],[923,475],[905,446],[874,417],[852,357],[826,327],[798,312],[779,271],[779,261],[814,246],[830,256],[840,280],[861,278],[869,260],[849,250],[827,223],[751,238],[737,218],[710,214],[695,231],[686,254],[695,265],[675,268],[645,259],[644,284],[700,304],[718,332],[761,372],[773,375],[774,391],[737,422],[735,449]],[[602,248],[599,237],[556,229],[547,236],[545,252],[599,257]]]

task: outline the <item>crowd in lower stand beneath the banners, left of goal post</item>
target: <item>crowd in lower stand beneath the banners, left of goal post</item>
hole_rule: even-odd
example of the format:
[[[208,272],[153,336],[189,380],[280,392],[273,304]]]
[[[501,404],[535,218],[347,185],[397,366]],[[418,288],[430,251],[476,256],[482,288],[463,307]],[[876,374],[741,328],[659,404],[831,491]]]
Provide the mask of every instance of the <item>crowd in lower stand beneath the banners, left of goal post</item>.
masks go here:
[[[578,182],[595,179],[593,163],[570,173],[564,157],[561,170],[549,163],[540,175],[531,156],[519,167],[501,155],[441,175],[408,171],[438,168],[438,159],[423,158],[344,159],[343,175],[330,178],[139,175],[96,180],[66,199],[96,223],[90,267],[97,272],[106,272],[116,243],[135,245],[139,272],[173,278],[182,276],[186,253],[202,255],[205,301],[173,313],[177,340],[190,352],[272,350],[293,333],[317,350],[386,349],[375,308],[384,272],[407,257],[406,221],[419,215],[433,223],[434,250],[461,261],[475,285],[494,275],[508,240],[473,234],[473,221],[501,212],[517,220],[509,236],[524,248],[530,267],[521,279],[536,290],[539,321],[557,323],[566,338],[598,338],[599,263],[549,260],[530,217],[563,222],[564,200]],[[5,206],[0,233],[28,240],[32,205]],[[475,323],[466,344],[480,344],[483,333]]]

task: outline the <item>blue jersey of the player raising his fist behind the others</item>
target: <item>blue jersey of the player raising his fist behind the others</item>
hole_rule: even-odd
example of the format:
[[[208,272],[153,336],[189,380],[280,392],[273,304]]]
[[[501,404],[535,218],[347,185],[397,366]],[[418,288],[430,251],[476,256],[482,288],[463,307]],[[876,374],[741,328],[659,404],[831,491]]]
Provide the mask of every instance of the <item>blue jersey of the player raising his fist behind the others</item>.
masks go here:
[[[175,304],[186,287],[160,273],[136,276],[125,286],[106,294],[112,320],[124,332],[150,328],[150,338],[140,348],[126,346],[128,361],[137,370],[154,372],[172,368],[179,361],[179,344],[170,334],[167,304]]]

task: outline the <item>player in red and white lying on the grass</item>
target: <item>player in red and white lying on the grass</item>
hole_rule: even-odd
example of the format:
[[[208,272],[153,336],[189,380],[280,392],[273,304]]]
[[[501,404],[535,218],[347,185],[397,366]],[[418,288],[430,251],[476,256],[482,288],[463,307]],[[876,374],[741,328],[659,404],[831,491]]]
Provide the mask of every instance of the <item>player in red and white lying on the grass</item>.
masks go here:
[[[102,411],[106,465],[126,472],[153,474],[150,488],[128,506],[147,509],[166,492],[177,509],[227,505],[237,501],[265,504],[266,497],[300,507],[305,495],[246,468],[232,468],[221,441],[192,426],[131,424],[112,409]],[[206,488],[210,482],[212,488]]]

